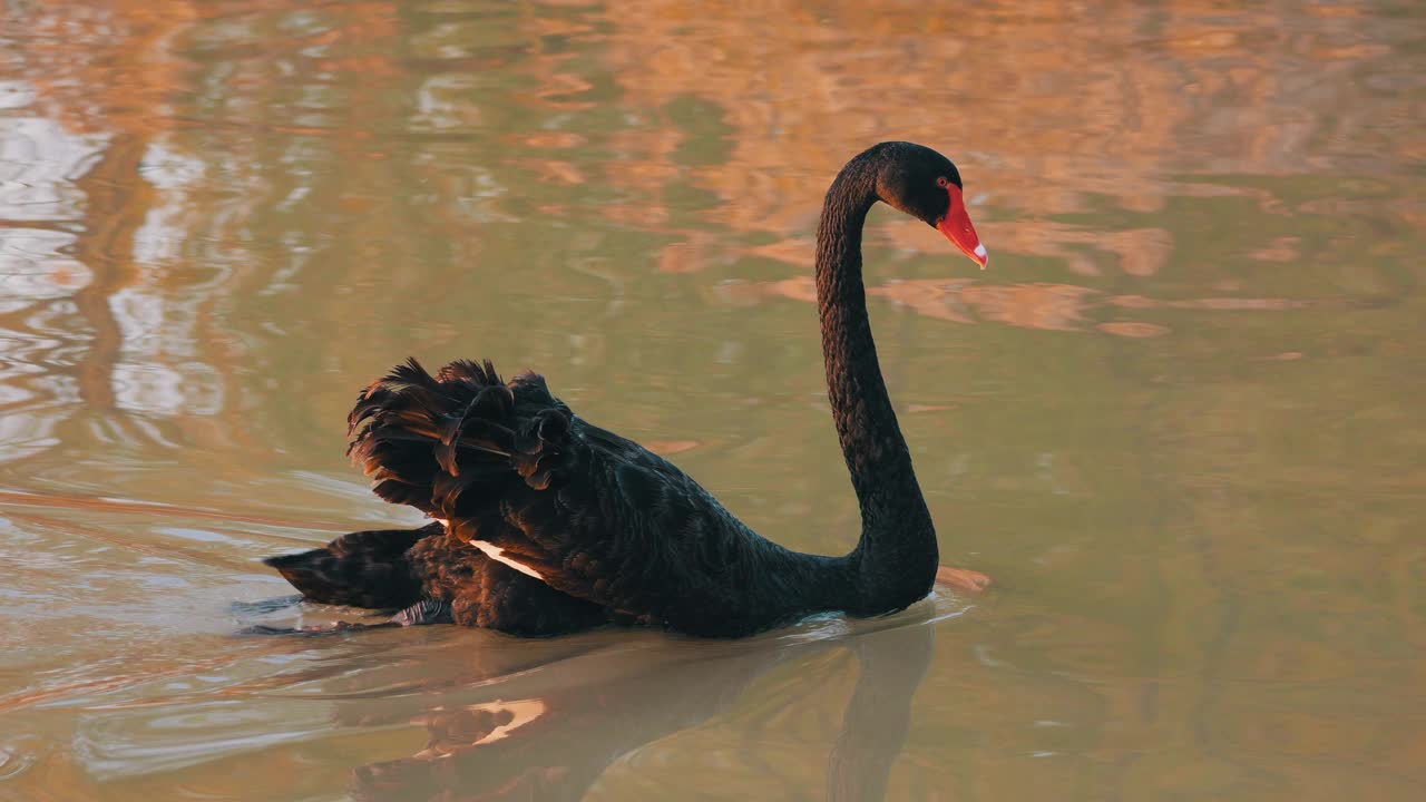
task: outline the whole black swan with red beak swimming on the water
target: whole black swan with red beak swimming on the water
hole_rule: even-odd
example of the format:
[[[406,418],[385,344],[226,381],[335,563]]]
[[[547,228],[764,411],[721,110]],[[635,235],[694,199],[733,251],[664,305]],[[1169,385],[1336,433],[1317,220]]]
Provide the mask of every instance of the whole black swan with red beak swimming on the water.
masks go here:
[[[759,537],[662,457],[575,415],[539,375],[506,384],[488,361],[431,375],[411,360],[361,392],[348,452],[376,495],[435,522],[352,532],[265,562],[309,599],[401,609],[376,626],[455,622],[513,635],[613,621],[739,636],[821,611],[903,609],[931,591],[938,569],[980,584],[938,567],[877,364],[861,281],[861,228],[877,201],[938,228],[981,268],[987,260],[960,173],[928,147],[873,146],[827,190],[817,310],[861,507],[850,554],[799,554]]]

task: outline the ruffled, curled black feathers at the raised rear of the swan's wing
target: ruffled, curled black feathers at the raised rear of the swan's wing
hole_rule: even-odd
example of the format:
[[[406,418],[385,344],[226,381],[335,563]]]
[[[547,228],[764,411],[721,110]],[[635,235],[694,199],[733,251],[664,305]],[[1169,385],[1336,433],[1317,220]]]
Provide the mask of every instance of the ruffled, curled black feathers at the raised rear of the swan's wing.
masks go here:
[[[462,498],[498,498],[516,478],[550,487],[570,420],[535,374],[505,384],[489,361],[461,360],[431,375],[408,360],[358,397],[348,455],[381,498],[451,518]]]

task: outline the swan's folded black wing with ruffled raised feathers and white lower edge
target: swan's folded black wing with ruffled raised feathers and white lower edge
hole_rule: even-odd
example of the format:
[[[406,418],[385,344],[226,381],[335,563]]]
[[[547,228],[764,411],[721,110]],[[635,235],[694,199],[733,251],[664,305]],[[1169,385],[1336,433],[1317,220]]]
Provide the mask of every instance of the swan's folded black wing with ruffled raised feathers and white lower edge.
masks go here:
[[[673,464],[575,417],[539,375],[503,384],[468,361],[431,375],[412,360],[362,391],[349,425],[378,495],[555,589],[693,634],[774,616],[779,594],[740,579],[789,552]]]

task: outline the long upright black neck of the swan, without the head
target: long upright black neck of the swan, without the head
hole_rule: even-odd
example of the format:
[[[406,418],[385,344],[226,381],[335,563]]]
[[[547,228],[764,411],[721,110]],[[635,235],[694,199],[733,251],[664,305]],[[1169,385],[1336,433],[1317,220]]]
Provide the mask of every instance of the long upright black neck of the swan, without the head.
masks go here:
[[[935,528],[887,395],[867,320],[861,228],[878,200],[871,166],[841,170],[817,225],[817,311],[831,415],[861,507],[861,539],[847,559],[851,612],[878,614],[924,597],[935,578]]]

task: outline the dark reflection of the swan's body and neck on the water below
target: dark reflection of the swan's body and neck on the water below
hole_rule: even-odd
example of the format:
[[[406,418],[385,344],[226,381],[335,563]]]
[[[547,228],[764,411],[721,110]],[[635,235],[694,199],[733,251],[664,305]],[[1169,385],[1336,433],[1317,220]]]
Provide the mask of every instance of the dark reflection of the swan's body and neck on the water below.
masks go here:
[[[563,688],[526,698],[425,711],[402,709],[419,699],[392,699],[375,715],[364,701],[348,724],[419,724],[429,742],[408,758],[354,769],[352,791],[364,801],[583,799],[622,756],[726,712],[774,666],[846,646],[860,674],[827,761],[827,798],[881,799],[906,742],[911,698],[930,665],[935,622],[945,618],[935,606],[933,599],[894,618],[854,624],[826,619],[813,632],[746,642],[674,644],[680,655],[655,671],[575,686],[560,671]]]

